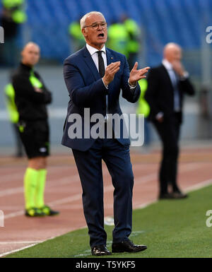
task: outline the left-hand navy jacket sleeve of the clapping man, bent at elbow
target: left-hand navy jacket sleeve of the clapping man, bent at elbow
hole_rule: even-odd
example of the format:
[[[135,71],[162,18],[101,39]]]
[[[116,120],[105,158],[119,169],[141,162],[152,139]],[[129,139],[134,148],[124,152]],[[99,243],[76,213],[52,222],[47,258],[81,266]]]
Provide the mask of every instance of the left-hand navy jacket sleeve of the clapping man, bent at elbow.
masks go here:
[[[86,85],[81,71],[68,59],[64,61],[64,80],[71,100],[77,107],[89,107],[95,101],[96,95],[107,95],[102,78]]]

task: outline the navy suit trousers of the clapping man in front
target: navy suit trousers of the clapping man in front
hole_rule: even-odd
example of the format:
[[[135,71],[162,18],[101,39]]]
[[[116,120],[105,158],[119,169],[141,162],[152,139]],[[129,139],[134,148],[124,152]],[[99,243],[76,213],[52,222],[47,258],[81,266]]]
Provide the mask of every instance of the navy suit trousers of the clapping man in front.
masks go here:
[[[72,150],[83,189],[83,211],[90,247],[106,244],[107,240],[104,230],[102,160],[107,165],[114,187],[113,242],[126,240],[131,234],[134,186],[129,146],[122,146],[115,138],[97,138],[86,151]]]

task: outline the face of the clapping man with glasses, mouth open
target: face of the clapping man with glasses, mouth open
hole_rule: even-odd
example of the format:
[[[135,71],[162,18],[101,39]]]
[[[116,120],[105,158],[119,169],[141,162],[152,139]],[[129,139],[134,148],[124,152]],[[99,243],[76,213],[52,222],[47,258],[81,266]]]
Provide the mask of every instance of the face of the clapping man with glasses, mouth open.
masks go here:
[[[98,14],[91,14],[86,18],[87,28],[83,28],[82,32],[88,45],[97,49],[102,49],[107,41],[107,25],[105,19]]]

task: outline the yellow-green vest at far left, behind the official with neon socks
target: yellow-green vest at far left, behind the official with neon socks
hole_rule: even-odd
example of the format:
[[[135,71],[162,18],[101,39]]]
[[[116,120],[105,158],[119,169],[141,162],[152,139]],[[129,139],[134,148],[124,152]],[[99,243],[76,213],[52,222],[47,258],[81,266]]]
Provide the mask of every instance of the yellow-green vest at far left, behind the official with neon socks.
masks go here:
[[[4,88],[4,93],[6,96],[6,108],[8,110],[9,118],[13,124],[17,124],[19,119],[19,114],[16,107],[16,102],[15,102],[16,93],[13,88],[13,85],[12,84],[6,85]]]

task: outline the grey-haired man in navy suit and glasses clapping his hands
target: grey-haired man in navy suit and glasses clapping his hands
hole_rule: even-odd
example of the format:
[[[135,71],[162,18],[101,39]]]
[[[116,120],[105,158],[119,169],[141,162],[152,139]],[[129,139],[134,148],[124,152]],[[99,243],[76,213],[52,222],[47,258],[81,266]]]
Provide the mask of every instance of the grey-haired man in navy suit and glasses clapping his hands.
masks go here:
[[[147,247],[133,244],[128,238],[131,234],[134,184],[129,138],[115,138],[115,131],[112,138],[71,138],[70,131],[73,114],[79,114],[83,119],[81,130],[86,133],[88,123],[84,124],[86,116],[83,117],[86,108],[91,116],[102,114],[103,126],[107,124],[107,114],[122,115],[120,90],[126,100],[136,102],[140,95],[137,81],[146,77],[144,74],[149,67],[137,70],[136,62],[129,73],[126,57],[105,47],[107,23],[102,13],[93,11],[83,16],[81,30],[86,46],[64,61],[64,80],[70,100],[62,144],[72,148],[81,179],[91,253],[95,256],[111,254],[106,247],[107,234],[104,230],[102,160],[107,165],[114,186],[112,252],[140,252]],[[90,131],[94,125],[95,122],[90,122]]]

